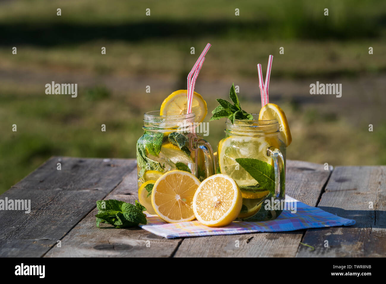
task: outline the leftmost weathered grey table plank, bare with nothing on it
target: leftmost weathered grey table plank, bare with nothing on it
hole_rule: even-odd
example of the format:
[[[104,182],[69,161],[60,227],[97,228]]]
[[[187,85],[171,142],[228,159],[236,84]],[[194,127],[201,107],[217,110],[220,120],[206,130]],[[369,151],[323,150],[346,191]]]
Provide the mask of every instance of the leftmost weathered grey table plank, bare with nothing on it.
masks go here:
[[[0,211],[0,256],[41,257],[135,167],[135,160],[52,157],[0,196],[31,212]]]

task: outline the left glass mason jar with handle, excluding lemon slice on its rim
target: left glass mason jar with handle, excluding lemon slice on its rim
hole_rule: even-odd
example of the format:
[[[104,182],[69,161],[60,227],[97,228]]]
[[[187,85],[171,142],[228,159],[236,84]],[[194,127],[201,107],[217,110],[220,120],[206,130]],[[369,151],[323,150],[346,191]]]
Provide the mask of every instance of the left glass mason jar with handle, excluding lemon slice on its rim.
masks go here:
[[[213,150],[195,132],[195,114],[144,114],[144,134],[137,141],[138,188],[170,170],[185,170],[201,181],[215,173]]]

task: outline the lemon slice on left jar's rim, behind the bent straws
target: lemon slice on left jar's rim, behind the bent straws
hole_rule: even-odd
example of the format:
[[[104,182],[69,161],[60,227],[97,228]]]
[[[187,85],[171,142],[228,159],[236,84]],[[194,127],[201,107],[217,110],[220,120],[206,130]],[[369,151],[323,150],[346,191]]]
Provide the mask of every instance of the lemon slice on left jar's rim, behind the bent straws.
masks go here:
[[[178,90],[171,93],[162,103],[159,114],[161,116],[186,114],[188,109],[187,94],[187,90]],[[191,111],[196,115],[195,122],[203,122],[208,113],[207,102],[196,92],[193,92]]]

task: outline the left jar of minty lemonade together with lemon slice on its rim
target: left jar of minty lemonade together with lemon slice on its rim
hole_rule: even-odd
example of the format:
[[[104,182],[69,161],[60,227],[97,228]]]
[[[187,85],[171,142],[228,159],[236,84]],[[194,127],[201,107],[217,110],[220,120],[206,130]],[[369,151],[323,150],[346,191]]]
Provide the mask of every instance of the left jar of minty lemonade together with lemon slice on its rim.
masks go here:
[[[215,173],[212,147],[196,133],[197,123],[207,114],[205,101],[195,92],[194,112],[189,114],[176,114],[181,112],[179,103],[186,104],[186,90],[169,95],[161,111],[146,112],[144,134],[136,144],[139,202],[150,214],[156,214],[151,204],[152,187],[164,173],[182,170],[199,180]]]

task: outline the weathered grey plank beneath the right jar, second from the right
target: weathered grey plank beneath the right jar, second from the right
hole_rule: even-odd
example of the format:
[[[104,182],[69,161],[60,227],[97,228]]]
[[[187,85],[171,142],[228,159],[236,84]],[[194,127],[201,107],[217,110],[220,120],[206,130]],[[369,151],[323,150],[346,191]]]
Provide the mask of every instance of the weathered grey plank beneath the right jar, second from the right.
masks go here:
[[[323,165],[288,160],[286,193],[316,206],[329,175]],[[175,257],[294,257],[302,236],[303,230],[185,238]]]

